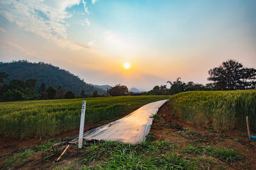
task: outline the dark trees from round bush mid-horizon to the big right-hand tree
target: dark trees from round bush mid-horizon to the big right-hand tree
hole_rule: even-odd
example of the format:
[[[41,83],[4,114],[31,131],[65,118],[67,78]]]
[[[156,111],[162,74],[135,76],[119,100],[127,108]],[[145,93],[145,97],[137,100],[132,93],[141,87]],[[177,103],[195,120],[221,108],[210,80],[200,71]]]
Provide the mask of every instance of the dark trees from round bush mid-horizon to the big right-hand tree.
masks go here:
[[[256,86],[256,69],[244,67],[236,60],[230,59],[222,62],[221,66],[210,69],[208,73],[209,78],[207,80],[213,82],[206,85],[193,81],[185,83],[179,77],[175,81],[166,82],[170,84],[170,89],[167,88],[167,85],[156,85],[148,92],[141,92],[141,95],[173,95],[180,92],[200,90],[243,90],[255,89]],[[109,89],[108,93],[111,96],[132,94],[128,92],[127,87],[121,85]]]

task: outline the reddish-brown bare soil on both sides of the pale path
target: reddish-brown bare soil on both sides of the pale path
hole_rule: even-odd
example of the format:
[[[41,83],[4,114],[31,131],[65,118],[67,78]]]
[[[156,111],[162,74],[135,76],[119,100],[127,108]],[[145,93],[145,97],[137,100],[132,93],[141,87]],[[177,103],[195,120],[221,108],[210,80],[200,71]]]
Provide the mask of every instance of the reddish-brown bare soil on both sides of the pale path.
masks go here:
[[[193,154],[186,155],[189,159],[195,159],[202,162],[202,167],[199,167],[199,169],[205,169],[205,167],[207,167],[207,169],[256,169],[256,142],[248,139],[246,131],[237,129],[220,134],[211,129],[196,127],[189,122],[172,117],[168,114],[169,111],[168,104],[164,104],[159,109],[159,117],[154,118],[148,136],[148,138],[152,138],[152,141],[172,141],[175,145],[180,146],[178,152],[180,155],[186,155],[184,151],[188,145],[193,145],[195,147],[200,145],[211,145],[214,146],[214,148],[232,148],[245,155],[243,159],[236,160],[232,163],[204,154],[202,157],[196,157]],[[125,113],[125,115],[127,115],[127,113]],[[86,126],[84,131],[88,131],[99,125],[107,124],[108,122],[109,120],[106,120],[100,122],[100,124]],[[81,162],[77,162],[77,160],[81,159],[84,150],[77,149],[76,145],[70,145],[67,152],[61,157],[61,160],[58,162],[56,161],[67,147],[67,144],[50,147],[44,152],[37,151],[33,155],[26,157],[24,160],[16,160],[16,163],[13,166],[1,167],[6,160],[19,155],[19,153],[24,152],[24,150],[33,149],[36,145],[41,145],[45,141],[68,141],[68,139],[72,139],[72,137],[76,136],[78,132],[79,130],[77,129],[75,131],[60,134],[52,139],[41,140],[0,138],[0,169],[10,169],[10,167],[13,169],[54,169],[55,167],[79,168],[81,167]],[[205,162],[205,160],[208,162]],[[93,162],[92,164],[97,164],[97,162]]]

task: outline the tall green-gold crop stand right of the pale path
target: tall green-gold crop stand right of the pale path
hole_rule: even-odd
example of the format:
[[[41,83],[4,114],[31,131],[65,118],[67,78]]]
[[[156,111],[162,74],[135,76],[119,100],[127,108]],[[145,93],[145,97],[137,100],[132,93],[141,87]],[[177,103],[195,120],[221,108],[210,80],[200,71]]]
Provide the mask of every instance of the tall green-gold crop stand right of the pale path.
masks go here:
[[[228,131],[235,127],[256,132],[256,90],[183,92],[170,98],[170,113],[193,124]]]

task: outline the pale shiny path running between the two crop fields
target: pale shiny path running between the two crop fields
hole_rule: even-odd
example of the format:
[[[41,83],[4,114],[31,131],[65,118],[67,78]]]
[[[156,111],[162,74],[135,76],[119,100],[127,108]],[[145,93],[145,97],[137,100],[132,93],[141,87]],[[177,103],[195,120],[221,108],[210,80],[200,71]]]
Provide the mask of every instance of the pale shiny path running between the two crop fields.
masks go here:
[[[152,125],[152,115],[168,100],[148,103],[124,118],[102,125],[83,134],[84,140],[119,141],[123,143],[141,143],[145,141]],[[78,138],[70,143],[77,143]]]

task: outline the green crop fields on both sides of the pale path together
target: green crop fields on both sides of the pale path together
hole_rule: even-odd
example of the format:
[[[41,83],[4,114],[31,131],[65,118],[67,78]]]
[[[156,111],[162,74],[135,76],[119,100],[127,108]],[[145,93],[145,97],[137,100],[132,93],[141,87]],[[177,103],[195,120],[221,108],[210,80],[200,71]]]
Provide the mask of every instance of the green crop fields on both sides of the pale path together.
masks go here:
[[[49,138],[79,128],[81,103],[85,124],[114,120],[144,104],[170,98],[170,113],[181,120],[228,131],[250,127],[256,132],[256,90],[196,91],[174,96],[123,96],[0,103],[0,134],[14,138]],[[99,124],[100,125],[100,124]]]

